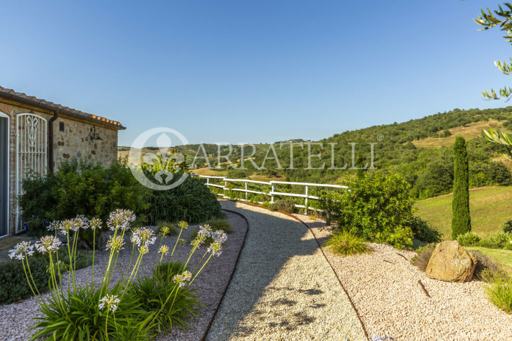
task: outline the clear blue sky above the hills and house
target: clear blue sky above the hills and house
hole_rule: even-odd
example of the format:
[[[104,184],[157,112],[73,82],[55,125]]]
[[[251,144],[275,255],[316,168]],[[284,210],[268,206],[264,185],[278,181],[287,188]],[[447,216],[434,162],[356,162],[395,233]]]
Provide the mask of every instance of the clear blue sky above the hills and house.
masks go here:
[[[497,108],[512,56],[481,7],[432,0],[5,2],[0,85],[189,142],[321,139]],[[512,105],[512,104],[511,104]]]

